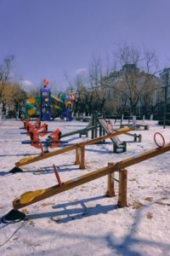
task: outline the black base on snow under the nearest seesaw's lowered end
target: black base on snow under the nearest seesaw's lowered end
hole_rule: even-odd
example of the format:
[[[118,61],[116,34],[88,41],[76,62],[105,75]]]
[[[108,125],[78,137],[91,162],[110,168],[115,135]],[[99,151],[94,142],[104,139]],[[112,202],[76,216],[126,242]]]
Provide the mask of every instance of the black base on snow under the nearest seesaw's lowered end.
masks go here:
[[[18,210],[12,209],[6,215],[1,218],[1,222],[5,224],[20,222],[26,218],[26,214],[24,212],[20,212]]]

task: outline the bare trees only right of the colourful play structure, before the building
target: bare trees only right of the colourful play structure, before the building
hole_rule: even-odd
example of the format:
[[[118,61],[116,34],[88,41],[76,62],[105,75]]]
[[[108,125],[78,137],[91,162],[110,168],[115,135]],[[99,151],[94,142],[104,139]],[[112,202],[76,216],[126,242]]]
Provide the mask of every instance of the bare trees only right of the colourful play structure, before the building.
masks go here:
[[[158,59],[155,51],[123,44],[118,47],[116,61],[110,64],[94,56],[88,73],[77,75],[72,90],[77,91],[78,113],[154,114],[163,102],[163,90],[156,76]],[[117,71],[118,69],[118,71]]]

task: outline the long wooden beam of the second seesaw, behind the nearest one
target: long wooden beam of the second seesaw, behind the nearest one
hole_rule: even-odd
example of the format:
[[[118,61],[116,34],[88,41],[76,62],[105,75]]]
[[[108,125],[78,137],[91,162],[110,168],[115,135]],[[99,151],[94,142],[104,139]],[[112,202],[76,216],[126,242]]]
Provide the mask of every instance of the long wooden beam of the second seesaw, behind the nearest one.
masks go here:
[[[37,162],[39,160],[47,159],[47,158],[52,157],[52,156],[57,155],[57,154],[63,154],[65,152],[68,152],[68,151],[71,151],[71,150],[74,150],[74,149],[77,149],[77,148],[83,148],[87,145],[91,145],[91,144],[94,144],[94,143],[99,143],[100,141],[103,141],[103,140],[111,138],[111,137],[116,137],[118,135],[126,133],[127,131],[132,131],[132,129],[130,129],[130,128],[121,128],[121,129],[117,130],[116,132],[111,133],[110,135],[106,135],[106,136],[103,136],[103,137],[97,137],[97,138],[88,140],[86,142],[77,143],[75,145],[71,145],[71,146],[68,146],[66,148],[60,148],[60,149],[55,150],[53,152],[48,152],[48,153],[41,154],[41,155],[38,155],[38,156],[35,156],[35,157],[24,158],[24,159],[21,159],[19,162],[16,162],[15,166],[16,167],[26,166],[26,165],[29,165],[31,163]]]

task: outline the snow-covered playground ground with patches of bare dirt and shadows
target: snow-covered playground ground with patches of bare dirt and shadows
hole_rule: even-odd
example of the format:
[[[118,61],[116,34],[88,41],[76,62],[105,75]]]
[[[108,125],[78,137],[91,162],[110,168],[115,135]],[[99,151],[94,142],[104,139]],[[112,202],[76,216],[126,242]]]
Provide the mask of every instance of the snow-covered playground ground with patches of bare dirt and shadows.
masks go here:
[[[15,162],[40,152],[20,143],[28,137],[20,134],[24,130],[19,129],[23,126],[19,120],[1,120],[0,217],[24,192],[53,186],[53,164],[59,166],[59,175],[65,182],[107,166],[108,162],[156,148],[156,131],[162,133],[166,143],[170,142],[170,127],[163,129],[156,121],[145,123],[150,125],[149,131],[135,131],[142,135],[141,143],[132,143],[133,137],[120,136],[128,142],[126,153],[112,154],[111,144],[88,146],[86,170],[74,165],[75,151],[71,151],[23,166],[22,173],[9,174]],[[86,125],[79,121],[48,123],[49,130],[59,128],[63,133]],[[85,139],[78,135],[65,138],[70,143]],[[1,223],[0,255],[170,255],[170,152],[130,166],[127,171],[128,207],[116,207],[117,185],[116,196],[105,197],[107,177],[101,177],[21,209],[26,212],[25,221]]]

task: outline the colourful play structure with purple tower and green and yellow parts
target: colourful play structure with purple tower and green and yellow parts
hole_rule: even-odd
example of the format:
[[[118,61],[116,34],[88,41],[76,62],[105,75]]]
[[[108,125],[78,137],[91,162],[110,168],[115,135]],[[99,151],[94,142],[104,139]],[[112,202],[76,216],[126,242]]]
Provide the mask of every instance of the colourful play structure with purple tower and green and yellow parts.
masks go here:
[[[23,119],[30,119],[37,113],[37,104],[40,105],[40,119],[44,121],[51,120],[52,109],[58,116],[66,121],[71,121],[72,110],[74,107],[75,96],[53,96],[48,87],[48,80],[43,80],[43,87],[40,90],[41,96],[30,97],[26,105],[22,108]]]

